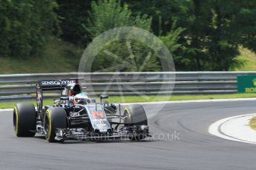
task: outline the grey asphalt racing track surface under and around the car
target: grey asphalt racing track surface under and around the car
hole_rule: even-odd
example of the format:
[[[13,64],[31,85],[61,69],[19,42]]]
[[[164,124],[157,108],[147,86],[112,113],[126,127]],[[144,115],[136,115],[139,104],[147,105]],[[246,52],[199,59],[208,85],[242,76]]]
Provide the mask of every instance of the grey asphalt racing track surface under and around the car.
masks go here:
[[[0,112],[0,169],[255,169],[255,145],[208,133],[216,120],[256,112],[255,102],[165,104],[149,120],[154,140],[141,142],[47,143],[40,136],[15,137],[12,113]],[[157,106],[146,105],[147,114]]]

